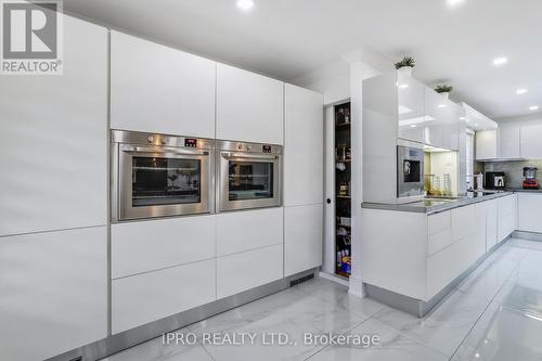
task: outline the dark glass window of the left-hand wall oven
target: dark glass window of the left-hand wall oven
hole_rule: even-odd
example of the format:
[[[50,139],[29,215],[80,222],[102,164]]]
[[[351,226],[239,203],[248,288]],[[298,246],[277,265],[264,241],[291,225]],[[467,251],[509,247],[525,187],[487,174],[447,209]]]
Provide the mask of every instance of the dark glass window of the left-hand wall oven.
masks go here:
[[[132,158],[132,206],[199,203],[202,164],[198,159]]]

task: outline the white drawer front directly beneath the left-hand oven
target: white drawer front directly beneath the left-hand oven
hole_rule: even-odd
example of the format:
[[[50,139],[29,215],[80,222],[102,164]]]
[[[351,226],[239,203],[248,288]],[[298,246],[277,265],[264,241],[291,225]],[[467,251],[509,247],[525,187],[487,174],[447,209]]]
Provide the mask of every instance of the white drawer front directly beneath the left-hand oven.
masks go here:
[[[215,258],[216,216],[111,227],[112,279]]]

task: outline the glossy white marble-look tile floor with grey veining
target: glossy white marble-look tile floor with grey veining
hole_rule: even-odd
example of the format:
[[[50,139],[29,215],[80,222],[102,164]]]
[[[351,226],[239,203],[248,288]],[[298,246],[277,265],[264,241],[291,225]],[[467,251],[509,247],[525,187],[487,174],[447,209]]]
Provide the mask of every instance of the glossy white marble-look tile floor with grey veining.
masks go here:
[[[306,343],[307,333],[343,335],[349,345]],[[179,334],[192,343],[156,338],[105,360],[542,360],[542,243],[509,240],[422,319],[315,279]],[[238,346],[234,335],[255,338]]]

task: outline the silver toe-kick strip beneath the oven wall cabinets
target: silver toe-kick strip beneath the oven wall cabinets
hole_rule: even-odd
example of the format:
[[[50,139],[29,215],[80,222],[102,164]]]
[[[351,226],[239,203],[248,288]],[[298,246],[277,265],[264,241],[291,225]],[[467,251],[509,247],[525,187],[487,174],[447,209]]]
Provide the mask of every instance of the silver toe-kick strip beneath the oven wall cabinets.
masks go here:
[[[259,298],[284,291],[293,284],[298,284],[318,274],[318,269],[310,269],[291,276],[264,284],[262,286],[245,291],[243,293],[203,305],[162,320],[157,320],[126,332],[111,335],[90,345],[64,352],[48,359],[47,361],[96,361],[111,354],[120,352],[127,348],[145,343],[190,324],[199,322],[215,314],[225,312],[242,305],[251,302]]]

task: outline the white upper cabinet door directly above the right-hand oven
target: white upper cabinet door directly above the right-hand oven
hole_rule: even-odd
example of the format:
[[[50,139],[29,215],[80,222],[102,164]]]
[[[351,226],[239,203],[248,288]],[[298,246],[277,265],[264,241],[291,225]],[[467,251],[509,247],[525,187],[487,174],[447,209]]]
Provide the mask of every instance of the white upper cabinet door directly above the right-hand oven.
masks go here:
[[[284,83],[217,64],[217,138],[283,144]]]

